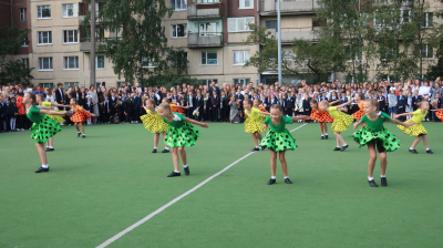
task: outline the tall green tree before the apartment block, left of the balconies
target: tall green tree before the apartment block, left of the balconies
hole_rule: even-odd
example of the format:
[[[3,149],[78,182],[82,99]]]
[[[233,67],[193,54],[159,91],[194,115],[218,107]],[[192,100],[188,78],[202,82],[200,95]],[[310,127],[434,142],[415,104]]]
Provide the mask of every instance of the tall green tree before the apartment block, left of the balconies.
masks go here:
[[[173,11],[164,0],[106,1],[99,12],[99,27],[113,38],[103,39],[99,50],[112,61],[119,78],[142,84],[186,79],[187,59],[183,50],[166,45],[162,25],[163,18]],[[80,27],[86,33],[90,19],[89,12]],[[97,37],[101,39],[100,32]]]

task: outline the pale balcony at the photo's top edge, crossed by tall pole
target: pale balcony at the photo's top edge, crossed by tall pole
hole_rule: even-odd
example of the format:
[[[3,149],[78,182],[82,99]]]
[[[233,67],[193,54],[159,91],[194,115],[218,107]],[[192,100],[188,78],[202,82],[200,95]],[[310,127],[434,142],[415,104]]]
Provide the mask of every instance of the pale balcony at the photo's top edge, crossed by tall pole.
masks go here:
[[[317,0],[310,1],[281,1],[280,0],[280,12],[281,14],[297,14],[299,13],[315,13],[321,6],[317,3]],[[260,3],[261,16],[276,16],[277,14],[277,2],[275,0],[264,0]]]

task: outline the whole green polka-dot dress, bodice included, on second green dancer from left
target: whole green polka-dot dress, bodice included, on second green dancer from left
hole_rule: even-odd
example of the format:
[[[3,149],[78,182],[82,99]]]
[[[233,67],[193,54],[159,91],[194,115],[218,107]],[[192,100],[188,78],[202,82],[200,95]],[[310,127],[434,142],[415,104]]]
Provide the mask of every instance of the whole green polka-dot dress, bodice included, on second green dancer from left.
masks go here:
[[[165,144],[169,147],[190,147],[195,146],[197,138],[202,133],[192,124],[185,121],[185,116],[174,113],[174,118],[168,122],[166,118],[163,121],[169,125],[167,130]]]

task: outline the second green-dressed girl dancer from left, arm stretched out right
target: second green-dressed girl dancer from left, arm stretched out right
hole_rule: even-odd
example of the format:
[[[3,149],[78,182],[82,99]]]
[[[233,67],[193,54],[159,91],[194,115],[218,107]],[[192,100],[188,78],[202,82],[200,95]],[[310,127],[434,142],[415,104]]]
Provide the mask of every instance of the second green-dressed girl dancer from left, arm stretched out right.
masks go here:
[[[197,137],[200,136],[200,132],[189,123],[206,128],[208,128],[209,126],[206,123],[197,122],[195,120],[185,117],[178,113],[172,112],[171,106],[167,103],[159,104],[158,114],[159,116],[163,117],[163,121],[169,125],[165,143],[172,148],[173,152],[174,172],[167,175],[167,177],[182,175],[179,172],[178,153],[181,154],[183,161],[185,175],[188,176],[189,166],[187,165],[185,147],[194,146],[195,142],[197,141]]]

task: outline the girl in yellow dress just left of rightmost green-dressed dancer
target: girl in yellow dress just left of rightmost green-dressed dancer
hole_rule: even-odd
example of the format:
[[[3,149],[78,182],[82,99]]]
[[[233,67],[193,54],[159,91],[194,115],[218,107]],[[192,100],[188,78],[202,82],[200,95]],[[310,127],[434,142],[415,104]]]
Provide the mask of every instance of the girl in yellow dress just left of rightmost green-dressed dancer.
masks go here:
[[[341,101],[341,100],[338,100],[338,101]],[[332,102],[331,104],[333,104],[336,102]],[[344,114],[339,108],[341,108],[350,103],[351,102],[347,102],[347,103],[340,104],[338,106],[329,106],[329,102],[326,100],[323,100],[319,103],[320,110],[327,111],[333,117],[333,123],[332,123],[331,130],[333,131],[333,134],[336,134],[336,141],[337,141],[337,147],[333,151],[343,152],[344,149],[347,149],[349,147],[349,145],[347,143],[344,143],[344,140],[340,133],[348,130],[348,127],[353,122],[353,117],[349,114]],[[341,148],[340,148],[340,143],[342,144]]]

